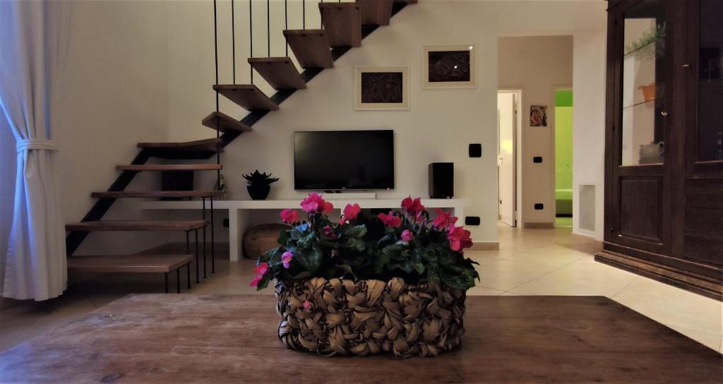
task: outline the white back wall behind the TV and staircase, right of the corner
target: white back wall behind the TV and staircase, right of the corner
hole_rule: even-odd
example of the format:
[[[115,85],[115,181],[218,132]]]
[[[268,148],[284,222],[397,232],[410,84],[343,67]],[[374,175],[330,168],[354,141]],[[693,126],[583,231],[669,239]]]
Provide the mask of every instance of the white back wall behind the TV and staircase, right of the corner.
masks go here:
[[[238,7],[244,4],[243,7]],[[263,3],[261,3],[263,4]],[[266,54],[265,7],[254,3],[254,56]],[[293,1],[289,2],[298,7]],[[248,81],[247,3],[236,2],[236,77]],[[281,8],[280,8],[281,7]],[[219,2],[219,60],[221,82],[231,81],[230,4]],[[272,1],[272,14],[283,12],[281,1]],[[422,1],[393,17],[382,27],[254,125],[254,132],[226,147],[224,164],[231,198],[247,198],[241,173],[256,168],[281,176],[270,198],[301,197],[293,189],[293,132],[312,129],[395,130],[397,188],[381,192],[385,197],[427,196],[427,163],[455,163],[455,192],[469,199],[466,215],[481,216],[482,226],[471,228],[473,238],[495,242],[496,161],[495,132],[498,35],[558,35],[604,27],[604,1]],[[173,140],[213,136],[200,120],[215,109],[210,90],[213,72],[213,8],[196,1],[177,2],[168,17],[168,121]],[[260,12],[257,14],[256,12]],[[293,16],[293,13],[292,13]],[[298,12],[296,16],[298,17]],[[307,17],[317,17],[315,5],[307,4]],[[221,20],[224,19],[224,20]],[[309,25],[317,25],[307,20]],[[290,27],[300,27],[298,18]],[[241,25],[242,27],[239,27]],[[272,21],[272,55],[283,54],[281,23]],[[307,25],[307,27],[309,27]],[[454,26],[451,28],[450,26]],[[479,86],[472,90],[422,90],[419,72],[422,46],[474,44],[478,54]],[[547,54],[555,55],[554,52]],[[411,78],[411,110],[354,111],[355,66],[408,66]],[[259,77],[254,76],[256,80]],[[262,90],[270,89],[257,81]],[[549,106],[552,106],[549,103]],[[245,111],[223,101],[221,110],[241,119]],[[551,128],[548,128],[551,129]],[[482,142],[483,157],[467,157],[471,142]],[[552,161],[550,162],[552,164]],[[209,180],[206,184],[212,184]],[[551,192],[552,193],[552,190]],[[554,204],[550,204],[550,209]]]

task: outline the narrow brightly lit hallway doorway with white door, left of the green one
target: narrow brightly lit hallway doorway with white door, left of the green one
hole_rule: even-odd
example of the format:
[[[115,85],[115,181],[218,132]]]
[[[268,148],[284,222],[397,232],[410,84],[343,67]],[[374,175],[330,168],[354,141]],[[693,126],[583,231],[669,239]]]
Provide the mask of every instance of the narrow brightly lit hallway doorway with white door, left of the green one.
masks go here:
[[[503,225],[518,221],[518,103],[519,90],[497,92],[497,218]]]

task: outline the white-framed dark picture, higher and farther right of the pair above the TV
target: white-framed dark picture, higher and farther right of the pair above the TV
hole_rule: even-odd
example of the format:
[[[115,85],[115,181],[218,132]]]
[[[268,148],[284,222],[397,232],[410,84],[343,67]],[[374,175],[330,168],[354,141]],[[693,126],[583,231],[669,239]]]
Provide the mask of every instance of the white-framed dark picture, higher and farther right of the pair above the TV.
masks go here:
[[[425,46],[422,88],[475,88],[474,46]]]

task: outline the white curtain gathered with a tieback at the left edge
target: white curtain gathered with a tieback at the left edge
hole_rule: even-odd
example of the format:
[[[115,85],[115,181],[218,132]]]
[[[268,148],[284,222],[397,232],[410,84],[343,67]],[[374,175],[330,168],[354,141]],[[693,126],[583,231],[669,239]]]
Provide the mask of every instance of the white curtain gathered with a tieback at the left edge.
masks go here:
[[[51,299],[67,286],[49,106],[59,30],[49,3],[0,1],[0,119],[7,119],[17,148],[2,296],[14,299]]]

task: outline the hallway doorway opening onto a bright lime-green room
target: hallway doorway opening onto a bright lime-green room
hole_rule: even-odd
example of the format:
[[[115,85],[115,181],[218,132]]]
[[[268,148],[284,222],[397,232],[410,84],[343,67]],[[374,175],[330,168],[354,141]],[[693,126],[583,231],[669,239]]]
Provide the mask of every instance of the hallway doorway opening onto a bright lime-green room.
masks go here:
[[[573,226],[573,90],[555,90],[555,226]]]

